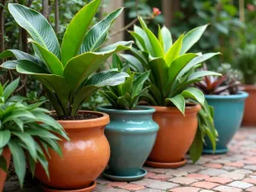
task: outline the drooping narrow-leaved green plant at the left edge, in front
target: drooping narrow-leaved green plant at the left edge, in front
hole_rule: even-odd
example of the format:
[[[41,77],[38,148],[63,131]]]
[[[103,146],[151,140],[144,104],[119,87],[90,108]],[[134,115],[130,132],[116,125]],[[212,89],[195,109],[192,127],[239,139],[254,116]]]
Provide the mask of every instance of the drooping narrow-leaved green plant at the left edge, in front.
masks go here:
[[[68,137],[61,125],[47,114],[49,111],[39,108],[44,102],[27,104],[26,97],[11,96],[18,84],[19,79],[8,85],[0,84],[0,168],[8,172],[7,162],[1,154],[3,148],[9,148],[22,187],[26,162],[32,174],[36,163],[40,163],[49,177],[48,157],[44,151],[49,155],[48,150],[52,148],[62,155],[57,142],[61,140],[59,136],[67,140]]]

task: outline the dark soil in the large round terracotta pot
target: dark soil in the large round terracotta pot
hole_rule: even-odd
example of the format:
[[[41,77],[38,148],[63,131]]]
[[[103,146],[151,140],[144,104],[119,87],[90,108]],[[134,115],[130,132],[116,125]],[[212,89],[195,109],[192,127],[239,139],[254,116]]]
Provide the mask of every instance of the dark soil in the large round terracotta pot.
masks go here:
[[[55,120],[85,120],[85,119],[96,119],[102,117],[100,114],[96,113],[79,113],[76,116],[57,116],[56,113],[52,113],[51,116]]]

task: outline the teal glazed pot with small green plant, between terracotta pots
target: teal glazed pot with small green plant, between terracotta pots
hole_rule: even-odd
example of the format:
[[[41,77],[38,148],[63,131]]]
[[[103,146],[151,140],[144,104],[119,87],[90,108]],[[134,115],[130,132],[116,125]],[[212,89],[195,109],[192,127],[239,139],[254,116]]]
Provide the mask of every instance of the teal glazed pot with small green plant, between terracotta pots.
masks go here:
[[[143,84],[150,71],[131,73],[117,55],[113,56],[113,68],[127,72],[130,77],[123,84],[102,88],[102,93],[111,103],[111,106],[97,108],[110,116],[105,134],[111,155],[108,170],[103,175],[117,181],[135,181],[147,174],[142,166],[159,130],[159,125],[152,119],[155,109],[137,106],[141,96],[148,90]]]

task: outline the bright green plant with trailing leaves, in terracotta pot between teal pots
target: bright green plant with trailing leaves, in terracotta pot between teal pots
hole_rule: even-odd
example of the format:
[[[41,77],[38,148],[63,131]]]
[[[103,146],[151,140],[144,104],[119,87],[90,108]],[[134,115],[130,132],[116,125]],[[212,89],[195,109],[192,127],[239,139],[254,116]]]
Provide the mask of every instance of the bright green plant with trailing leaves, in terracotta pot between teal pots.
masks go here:
[[[139,18],[140,26],[134,26],[134,31],[130,32],[135,39],[137,48],[132,48],[132,55],[121,55],[137,72],[151,70],[148,81],[145,83],[148,93],[144,99],[154,106],[176,107],[181,113],[185,113],[186,102],[199,103],[202,106],[201,118],[207,117],[211,122],[210,113],[204,113],[208,109],[205,106],[205,96],[201,90],[191,86],[195,82],[200,82],[205,76],[219,76],[220,73],[211,71],[199,71],[201,63],[212,58],[219,53],[187,53],[189,49],[201,38],[207,25],[198,26],[191,31],[184,33],[172,44],[172,33],[163,26],[159,27],[158,37],[148,29],[147,24]],[[208,112],[209,110],[207,110]],[[213,137],[212,146],[215,146],[216,130],[211,124],[201,123],[200,135],[207,133],[208,137]],[[204,125],[204,126],[202,126]],[[207,131],[205,130],[207,129]],[[201,144],[204,141],[201,140]],[[197,144],[197,143],[196,143]],[[196,151],[195,144],[192,145],[191,155],[193,160],[198,160],[202,149]],[[194,150],[195,149],[195,150]],[[214,148],[213,148],[214,149]]]

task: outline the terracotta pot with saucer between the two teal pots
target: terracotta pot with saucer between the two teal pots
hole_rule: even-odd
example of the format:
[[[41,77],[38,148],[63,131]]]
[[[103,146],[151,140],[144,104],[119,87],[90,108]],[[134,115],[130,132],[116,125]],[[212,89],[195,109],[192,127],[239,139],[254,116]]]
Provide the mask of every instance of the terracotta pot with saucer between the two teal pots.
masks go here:
[[[146,165],[162,168],[183,166],[197,130],[200,105],[187,107],[185,116],[177,108],[154,107],[153,119],[160,130]]]

